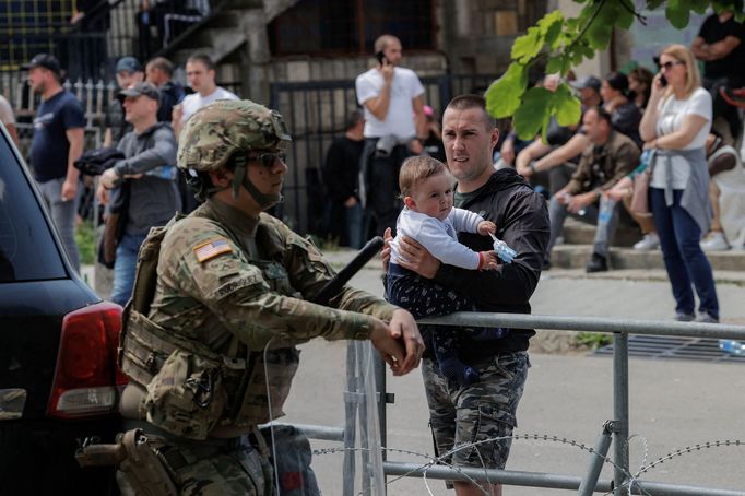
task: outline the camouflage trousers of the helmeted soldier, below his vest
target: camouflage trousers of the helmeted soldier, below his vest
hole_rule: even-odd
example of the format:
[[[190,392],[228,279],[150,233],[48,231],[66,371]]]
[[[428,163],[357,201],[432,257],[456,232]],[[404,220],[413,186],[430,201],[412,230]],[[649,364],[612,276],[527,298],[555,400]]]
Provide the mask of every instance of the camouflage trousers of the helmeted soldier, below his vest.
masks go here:
[[[274,494],[271,480],[264,475],[265,462],[246,441],[168,442],[158,446],[157,453],[181,496]],[[122,472],[117,473],[117,482],[122,496],[134,495]]]

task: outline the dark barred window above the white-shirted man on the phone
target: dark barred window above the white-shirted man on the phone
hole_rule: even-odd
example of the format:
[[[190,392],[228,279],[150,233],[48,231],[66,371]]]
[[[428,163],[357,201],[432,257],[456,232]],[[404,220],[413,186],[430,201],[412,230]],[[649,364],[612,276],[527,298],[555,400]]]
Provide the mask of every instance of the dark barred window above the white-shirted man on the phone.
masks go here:
[[[436,0],[300,0],[269,25],[274,56],[363,55],[385,33],[405,50],[436,47]]]

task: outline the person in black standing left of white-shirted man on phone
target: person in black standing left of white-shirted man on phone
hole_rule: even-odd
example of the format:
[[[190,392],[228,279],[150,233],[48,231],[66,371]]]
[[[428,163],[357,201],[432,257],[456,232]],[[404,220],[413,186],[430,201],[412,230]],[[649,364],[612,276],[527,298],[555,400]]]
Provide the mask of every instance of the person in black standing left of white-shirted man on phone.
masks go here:
[[[328,191],[327,224],[330,234],[352,248],[362,248],[364,229],[359,203],[359,158],[365,147],[365,117],[359,110],[350,114],[343,137],[329,146],[323,165],[323,185]]]

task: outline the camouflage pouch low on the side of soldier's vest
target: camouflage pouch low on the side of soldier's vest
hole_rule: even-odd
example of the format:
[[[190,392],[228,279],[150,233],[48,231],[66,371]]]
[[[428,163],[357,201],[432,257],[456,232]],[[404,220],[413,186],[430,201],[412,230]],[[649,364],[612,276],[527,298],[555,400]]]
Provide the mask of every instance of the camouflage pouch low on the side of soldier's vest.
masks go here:
[[[221,364],[176,350],[147,385],[147,422],[191,439],[206,439],[225,409]]]

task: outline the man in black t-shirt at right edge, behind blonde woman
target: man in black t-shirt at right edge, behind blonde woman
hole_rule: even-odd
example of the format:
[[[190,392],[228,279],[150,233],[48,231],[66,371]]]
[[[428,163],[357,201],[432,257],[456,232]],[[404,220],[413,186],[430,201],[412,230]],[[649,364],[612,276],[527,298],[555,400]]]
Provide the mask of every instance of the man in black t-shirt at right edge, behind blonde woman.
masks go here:
[[[703,62],[703,87],[713,99],[713,118],[726,119],[736,140],[741,130],[737,109],[724,102],[719,88],[745,86],[745,24],[735,22],[732,12],[711,14],[690,49]]]

